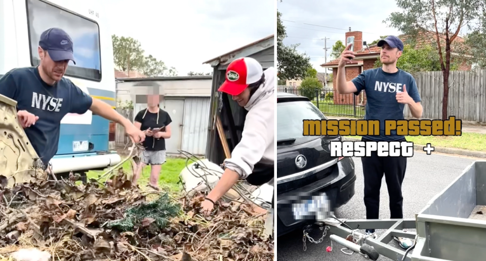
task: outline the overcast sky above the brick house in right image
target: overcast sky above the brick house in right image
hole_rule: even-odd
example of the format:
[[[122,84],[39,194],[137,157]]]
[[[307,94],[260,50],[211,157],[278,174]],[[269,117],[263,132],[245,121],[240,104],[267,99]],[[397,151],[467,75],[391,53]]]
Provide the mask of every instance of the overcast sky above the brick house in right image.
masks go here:
[[[278,1],[277,7],[282,13],[280,18],[287,20],[282,21],[287,31],[284,44],[300,43],[298,50],[307,53],[318,72],[324,72],[320,67],[325,62],[323,38],[329,39],[329,56],[336,40],[345,42],[349,27],[351,31],[363,32],[363,41],[368,42],[379,39],[380,35],[399,34],[395,28],[382,23],[390,13],[400,11],[393,0],[284,0]],[[327,61],[331,59],[328,57]]]

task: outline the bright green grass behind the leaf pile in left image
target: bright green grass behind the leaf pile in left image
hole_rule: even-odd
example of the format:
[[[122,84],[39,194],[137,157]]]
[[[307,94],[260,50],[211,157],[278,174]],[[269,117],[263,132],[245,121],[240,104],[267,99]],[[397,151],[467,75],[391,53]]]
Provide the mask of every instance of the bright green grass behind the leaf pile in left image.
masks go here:
[[[189,161],[188,164],[192,163]],[[160,185],[161,189],[167,189],[171,192],[177,192],[182,189],[179,182],[179,174],[181,171],[186,167],[186,159],[178,159],[178,158],[167,158],[167,162],[162,165],[162,171],[158,178],[158,184]],[[130,161],[127,161],[123,164],[123,169],[129,174],[129,177],[132,175],[132,164]],[[104,171],[90,171],[88,172],[88,179],[95,178],[97,179],[99,175],[103,174]],[[140,179],[137,181],[137,184],[140,188],[145,187],[148,184],[148,180],[150,177],[150,166],[146,166],[142,170],[142,175]],[[104,182],[106,179],[101,180]]]

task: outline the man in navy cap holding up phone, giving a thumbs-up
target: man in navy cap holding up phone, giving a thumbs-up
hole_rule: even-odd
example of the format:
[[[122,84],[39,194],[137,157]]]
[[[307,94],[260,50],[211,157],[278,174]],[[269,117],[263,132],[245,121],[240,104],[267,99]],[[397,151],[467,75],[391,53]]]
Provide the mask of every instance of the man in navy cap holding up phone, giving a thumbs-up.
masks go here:
[[[385,120],[402,120],[403,109],[408,105],[415,118],[422,116],[420,94],[414,77],[396,67],[396,62],[403,51],[403,42],[396,36],[388,36],[378,42],[381,47],[380,68],[363,71],[351,81],[346,81],[345,65],[355,58],[355,53],[349,50],[351,44],[346,46],[341,54],[336,77],[337,90],[340,94],[354,93],[359,95],[365,90],[366,120],[380,121],[380,135],[363,136],[362,141],[406,141],[404,136],[392,131],[385,136]],[[365,179],[365,206],[367,219],[378,219],[380,210],[380,187],[385,175],[388,194],[390,196],[391,219],[403,218],[401,184],[407,168],[407,158],[379,157],[374,151],[371,157],[362,157],[363,174]],[[367,230],[373,234],[374,230]],[[376,235],[375,235],[376,236]]]

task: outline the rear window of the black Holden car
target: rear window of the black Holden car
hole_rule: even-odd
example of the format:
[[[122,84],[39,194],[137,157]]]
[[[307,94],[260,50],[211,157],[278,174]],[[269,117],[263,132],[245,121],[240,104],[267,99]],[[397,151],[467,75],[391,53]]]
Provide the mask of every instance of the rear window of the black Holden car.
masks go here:
[[[277,140],[304,137],[302,135],[304,120],[327,120],[327,118],[310,101],[278,102]]]

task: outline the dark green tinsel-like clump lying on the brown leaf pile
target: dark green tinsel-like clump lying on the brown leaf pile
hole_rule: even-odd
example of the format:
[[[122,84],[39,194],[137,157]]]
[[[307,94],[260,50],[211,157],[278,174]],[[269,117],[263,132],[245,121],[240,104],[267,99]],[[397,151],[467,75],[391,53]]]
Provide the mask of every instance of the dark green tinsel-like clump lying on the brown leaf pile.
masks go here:
[[[177,216],[179,211],[180,205],[174,203],[166,193],[157,200],[129,208],[125,212],[125,218],[112,221],[107,226],[124,232],[133,231],[136,227],[142,226],[143,219],[152,218],[155,221],[151,225],[163,229],[166,227],[169,218]]]

